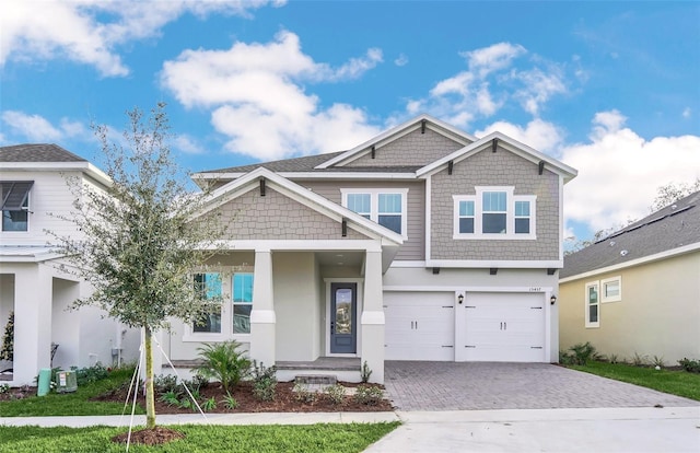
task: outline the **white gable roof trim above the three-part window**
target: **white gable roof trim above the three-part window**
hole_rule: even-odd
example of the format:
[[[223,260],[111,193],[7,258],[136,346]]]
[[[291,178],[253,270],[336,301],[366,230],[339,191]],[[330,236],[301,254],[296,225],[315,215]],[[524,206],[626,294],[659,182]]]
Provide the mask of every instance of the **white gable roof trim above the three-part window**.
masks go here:
[[[418,177],[424,177],[440,172],[450,163],[450,161],[457,163],[478,152],[490,149],[494,140],[498,142],[498,146],[503,147],[535,164],[539,164],[540,162],[544,163],[546,169],[563,176],[564,184],[573,179],[579,174],[575,169],[553,158],[550,158],[547,154],[544,154],[526,144],[523,144],[517,140],[514,140],[501,132],[491,132],[482,139],[476,140],[475,142],[467,144],[466,147],[451,154],[447,154],[444,158],[423,166],[422,169],[419,169],[416,172],[416,175]]]

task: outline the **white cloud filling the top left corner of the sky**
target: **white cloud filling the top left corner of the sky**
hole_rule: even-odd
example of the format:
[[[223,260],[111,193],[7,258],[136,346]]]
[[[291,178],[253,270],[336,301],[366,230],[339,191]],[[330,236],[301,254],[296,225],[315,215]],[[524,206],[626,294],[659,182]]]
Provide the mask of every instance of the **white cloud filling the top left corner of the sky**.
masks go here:
[[[0,14],[0,66],[9,59],[68,58],[94,66],[104,77],[126,76],[129,69],[117,53],[119,45],[155,36],[187,12],[247,15],[270,3],[283,1],[8,1]]]

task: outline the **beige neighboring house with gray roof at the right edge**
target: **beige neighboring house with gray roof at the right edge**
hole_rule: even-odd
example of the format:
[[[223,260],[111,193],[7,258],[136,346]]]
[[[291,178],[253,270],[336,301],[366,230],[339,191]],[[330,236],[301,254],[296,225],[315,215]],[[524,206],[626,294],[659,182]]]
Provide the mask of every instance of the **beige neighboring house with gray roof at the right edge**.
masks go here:
[[[562,349],[700,358],[700,191],[564,258]]]

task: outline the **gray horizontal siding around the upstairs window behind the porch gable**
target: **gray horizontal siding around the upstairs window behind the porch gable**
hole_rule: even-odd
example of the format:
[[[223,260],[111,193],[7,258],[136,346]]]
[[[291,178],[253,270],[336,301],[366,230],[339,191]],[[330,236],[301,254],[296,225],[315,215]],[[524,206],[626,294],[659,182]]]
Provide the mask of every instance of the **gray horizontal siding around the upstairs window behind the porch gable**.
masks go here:
[[[396,260],[425,259],[425,189],[422,181],[304,181],[298,182],[328,200],[342,204],[340,188],[408,188],[408,240]]]

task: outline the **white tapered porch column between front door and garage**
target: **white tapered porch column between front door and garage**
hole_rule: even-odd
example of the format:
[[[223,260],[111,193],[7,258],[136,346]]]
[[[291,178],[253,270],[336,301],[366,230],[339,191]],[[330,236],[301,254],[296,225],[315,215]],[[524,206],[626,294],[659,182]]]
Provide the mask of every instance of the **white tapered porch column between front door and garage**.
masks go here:
[[[370,382],[384,383],[384,307],[382,252],[366,253],[364,265],[364,307],[362,310],[362,364],[372,370]]]

